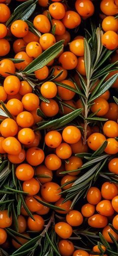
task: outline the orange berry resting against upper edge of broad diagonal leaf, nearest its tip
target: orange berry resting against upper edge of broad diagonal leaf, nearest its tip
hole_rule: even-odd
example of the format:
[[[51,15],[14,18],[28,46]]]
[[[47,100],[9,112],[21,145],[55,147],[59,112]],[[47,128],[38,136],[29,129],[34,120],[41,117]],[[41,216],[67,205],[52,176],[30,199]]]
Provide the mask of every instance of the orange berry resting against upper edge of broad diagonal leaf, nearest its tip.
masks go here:
[[[39,43],[42,50],[46,50],[55,44],[55,37],[50,33],[45,33],[40,37]]]

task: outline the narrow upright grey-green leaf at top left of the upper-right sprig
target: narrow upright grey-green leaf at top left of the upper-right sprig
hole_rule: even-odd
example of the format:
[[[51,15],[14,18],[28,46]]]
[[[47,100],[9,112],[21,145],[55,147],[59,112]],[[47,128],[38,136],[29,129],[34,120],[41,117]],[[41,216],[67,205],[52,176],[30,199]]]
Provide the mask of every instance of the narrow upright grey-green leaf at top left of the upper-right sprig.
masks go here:
[[[91,56],[90,56],[89,45],[85,38],[84,38],[84,65],[85,65],[85,71],[86,71],[86,78],[87,80],[89,80],[90,68],[91,68]]]

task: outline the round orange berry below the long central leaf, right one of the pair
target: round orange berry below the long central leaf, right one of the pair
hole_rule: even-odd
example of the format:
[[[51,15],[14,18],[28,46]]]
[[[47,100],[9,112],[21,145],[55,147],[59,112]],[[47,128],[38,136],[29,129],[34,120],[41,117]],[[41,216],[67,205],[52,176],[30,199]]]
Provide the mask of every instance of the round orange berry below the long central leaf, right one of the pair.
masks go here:
[[[80,130],[73,125],[66,126],[62,131],[62,138],[67,143],[76,143],[79,141],[80,137]]]

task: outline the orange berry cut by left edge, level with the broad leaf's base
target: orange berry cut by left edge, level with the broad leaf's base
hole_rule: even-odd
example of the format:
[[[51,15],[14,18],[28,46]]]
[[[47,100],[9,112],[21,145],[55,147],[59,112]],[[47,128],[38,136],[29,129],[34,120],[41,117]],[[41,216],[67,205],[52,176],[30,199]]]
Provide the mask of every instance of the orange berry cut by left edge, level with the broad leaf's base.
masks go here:
[[[15,73],[15,66],[11,60],[3,59],[0,61],[0,75],[3,77],[8,77],[8,73]]]

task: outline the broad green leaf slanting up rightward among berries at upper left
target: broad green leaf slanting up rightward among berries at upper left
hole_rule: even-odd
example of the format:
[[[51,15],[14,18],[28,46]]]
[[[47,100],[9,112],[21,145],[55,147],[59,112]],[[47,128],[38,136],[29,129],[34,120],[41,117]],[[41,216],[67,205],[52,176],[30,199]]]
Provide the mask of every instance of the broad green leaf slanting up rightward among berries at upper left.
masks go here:
[[[35,58],[24,70],[26,74],[30,74],[38,69],[41,69],[52,61],[63,49],[63,40],[55,43],[53,46],[49,47],[37,58]]]

